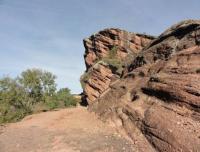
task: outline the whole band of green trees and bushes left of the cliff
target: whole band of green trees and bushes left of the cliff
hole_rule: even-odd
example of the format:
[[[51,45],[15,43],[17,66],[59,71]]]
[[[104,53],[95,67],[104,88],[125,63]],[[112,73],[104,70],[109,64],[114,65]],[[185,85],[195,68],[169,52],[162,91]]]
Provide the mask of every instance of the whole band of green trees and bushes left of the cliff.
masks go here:
[[[56,76],[40,69],[28,69],[17,78],[0,79],[0,123],[15,122],[24,116],[55,108],[76,106],[68,88],[57,91]]]

